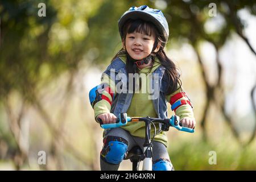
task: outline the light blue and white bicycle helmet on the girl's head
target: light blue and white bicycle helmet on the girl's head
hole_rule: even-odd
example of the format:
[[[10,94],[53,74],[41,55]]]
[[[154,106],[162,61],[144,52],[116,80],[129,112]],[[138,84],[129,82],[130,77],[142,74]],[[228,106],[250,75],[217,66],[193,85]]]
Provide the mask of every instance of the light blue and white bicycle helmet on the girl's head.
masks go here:
[[[121,38],[123,38],[123,24],[125,24],[126,20],[128,19],[142,19],[148,22],[152,22],[155,24],[156,28],[158,28],[158,31],[162,35],[164,42],[167,42],[169,36],[169,27],[167,20],[161,10],[151,9],[146,5],[130,7],[130,9],[126,11],[118,20],[118,28]]]

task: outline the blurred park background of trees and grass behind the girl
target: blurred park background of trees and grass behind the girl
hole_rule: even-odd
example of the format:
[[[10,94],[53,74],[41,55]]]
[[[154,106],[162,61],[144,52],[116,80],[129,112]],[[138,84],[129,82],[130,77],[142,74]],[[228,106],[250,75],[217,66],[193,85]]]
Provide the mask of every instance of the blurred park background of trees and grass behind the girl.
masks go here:
[[[119,17],[141,5],[166,16],[194,106],[195,134],[168,131],[175,169],[256,169],[255,1],[1,0],[0,170],[100,169],[89,90],[121,48]]]

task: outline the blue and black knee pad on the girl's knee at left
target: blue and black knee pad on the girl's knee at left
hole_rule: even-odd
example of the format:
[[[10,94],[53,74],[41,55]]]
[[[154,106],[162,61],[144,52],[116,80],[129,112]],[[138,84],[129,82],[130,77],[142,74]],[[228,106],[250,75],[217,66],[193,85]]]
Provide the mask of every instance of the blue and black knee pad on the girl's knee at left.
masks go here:
[[[119,164],[125,157],[127,148],[127,140],[121,137],[108,136],[104,140],[104,147],[101,151],[101,158],[110,164]]]

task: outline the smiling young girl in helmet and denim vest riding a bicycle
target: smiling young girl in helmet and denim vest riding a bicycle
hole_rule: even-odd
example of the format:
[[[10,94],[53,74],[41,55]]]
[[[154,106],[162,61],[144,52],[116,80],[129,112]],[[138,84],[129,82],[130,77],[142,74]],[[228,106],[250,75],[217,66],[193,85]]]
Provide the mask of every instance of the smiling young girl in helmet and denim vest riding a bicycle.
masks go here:
[[[90,90],[96,121],[115,123],[119,113],[130,117],[167,118],[167,102],[170,102],[182,125],[193,128],[196,122],[191,102],[182,91],[174,62],[164,52],[169,29],[162,11],[146,5],[131,7],[119,19],[118,27],[123,48],[102,73],[101,84]],[[138,77],[131,80],[133,75],[139,75],[141,80]],[[142,92],[143,89],[148,91],[145,87],[150,87],[150,92]],[[143,149],[144,127],[144,122],[129,122],[126,126],[105,130],[101,170],[117,170],[127,151],[134,146]],[[151,132],[152,136],[153,127]],[[152,168],[174,170],[161,125],[156,126],[156,133],[152,141]]]

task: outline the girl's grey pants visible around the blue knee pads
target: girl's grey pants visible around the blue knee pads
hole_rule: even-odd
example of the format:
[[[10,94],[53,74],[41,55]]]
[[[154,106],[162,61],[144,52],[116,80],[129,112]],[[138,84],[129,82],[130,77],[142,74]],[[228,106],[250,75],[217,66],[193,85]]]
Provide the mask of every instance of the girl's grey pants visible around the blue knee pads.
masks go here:
[[[121,129],[120,127],[117,127],[117,128],[107,131],[105,133],[104,137],[106,138],[108,136],[122,137],[122,138],[126,139],[129,143],[128,148],[127,148],[128,151],[130,151],[131,148],[133,148],[134,146],[141,147],[141,149],[143,151],[144,139],[139,138],[139,137],[134,137],[134,136],[130,135],[130,133],[128,131]],[[166,146],[164,146],[163,143],[152,141],[152,144],[153,144],[152,153],[153,153],[154,161],[158,160],[158,159],[170,160],[168,152],[167,152],[167,148],[166,148]],[[101,165],[102,171],[117,171],[119,168],[119,164],[109,164],[102,159],[100,159],[100,165]]]

